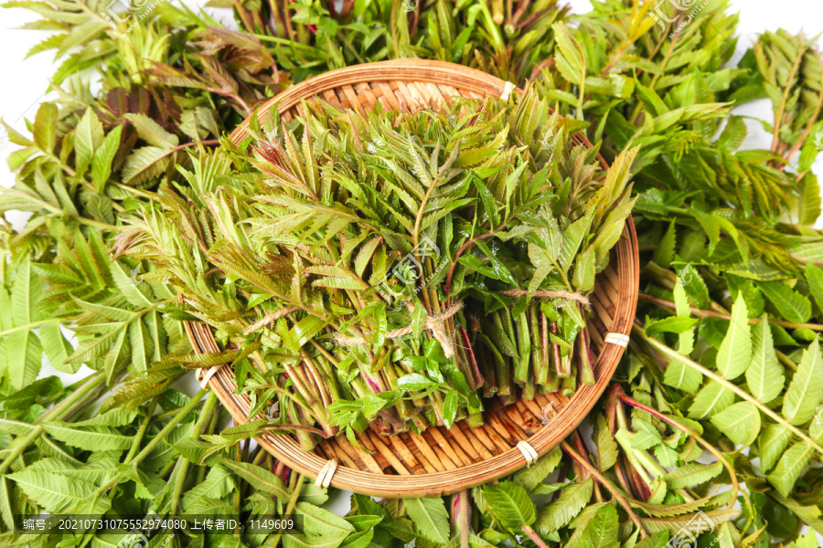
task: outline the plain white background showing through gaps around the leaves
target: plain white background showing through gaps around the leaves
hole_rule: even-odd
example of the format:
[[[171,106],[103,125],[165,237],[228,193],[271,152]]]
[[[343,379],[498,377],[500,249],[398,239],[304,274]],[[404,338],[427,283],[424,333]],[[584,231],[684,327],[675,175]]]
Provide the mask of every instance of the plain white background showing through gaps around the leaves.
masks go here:
[[[175,0],[176,1],[176,0]],[[187,0],[189,5],[202,5],[205,0]],[[589,0],[570,0],[572,11],[583,13],[591,9]],[[697,4],[696,4],[697,5]],[[732,11],[740,12],[738,26],[737,53],[732,63],[743,56],[759,33],[766,30],[785,28],[792,34],[801,30],[807,36],[823,34],[823,2],[820,0],[732,0]],[[219,15],[218,15],[219,14]],[[230,25],[230,16],[227,10],[217,12],[217,18]],[[47,33],[31,30],[16,30],[29,21],[37,20],[37,16],[23,9],[0,10],[0,74],[5,79],[0,84],[0,117],[14,127],[18,132],[26,131],[26,120],[33,120],[37,113],[37,105],[44,100],[48,89],[48,78],[56,70],[53,63],[53,53],[41,53],[33,58],[24,59],[29,48],[48,36]],[[818,41],[818,44],[820,42]],[[53,96],[49,96],[52,99]],[[771,103],[768,100],[759,100],[735,110],[738,114],[754,116],[772,121]],[[771,145],[771,136],[764,132],[760,124],[747,122],[749,136],[743,143],[744,148],[767,149]],[[10,186],[14,183],[14,175],[9,173],[5,158],[14,152],[14,145],[6,144],[0,148],[0,184]],[[815,173],[823,174],[823,162],[818,161]],[[24,221],[24,216],[12,216],[10,221],[16,227]],[[823,224],[818,223],[818,227]],[[4,311],[0,311],[3,313]],[[43,374],[58,374],[64,382],[71,382],[88,373],[83,367],[78,374],[59,374],[48,367]],[[189,394],[194,393],[197,385],[191,379],[187,388]],[[348,497],[337,492],[331,510],[347,511]],[[819,538],[819,535],[818,535]],[[823,539],[820,539],[823,542]]]

